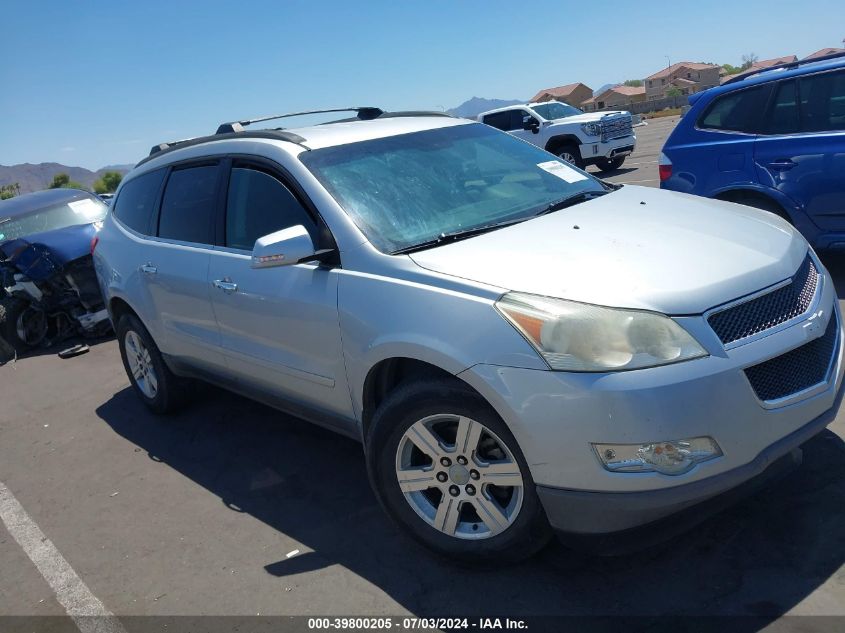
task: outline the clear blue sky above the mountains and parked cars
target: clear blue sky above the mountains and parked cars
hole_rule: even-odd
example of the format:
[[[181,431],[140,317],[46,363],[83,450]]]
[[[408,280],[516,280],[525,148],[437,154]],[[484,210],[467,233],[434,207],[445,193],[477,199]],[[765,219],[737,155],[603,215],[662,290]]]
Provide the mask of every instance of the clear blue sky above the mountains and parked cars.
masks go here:
[[[799,57],[845,37],[845,0],[7,0],[0,164],[131,163],[262,114],[451,108],[677,61]]]

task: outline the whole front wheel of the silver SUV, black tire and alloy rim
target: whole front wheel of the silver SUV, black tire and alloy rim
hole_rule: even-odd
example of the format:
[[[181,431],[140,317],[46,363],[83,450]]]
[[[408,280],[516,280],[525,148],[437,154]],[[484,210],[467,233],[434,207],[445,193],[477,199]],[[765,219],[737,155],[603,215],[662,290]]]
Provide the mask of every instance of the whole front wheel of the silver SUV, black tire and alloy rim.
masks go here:
[[[458,382],[414,382],[391,393],[373,416],[366,455],[391,518],[452,561],[515,562],[550,538],[516,440]]]

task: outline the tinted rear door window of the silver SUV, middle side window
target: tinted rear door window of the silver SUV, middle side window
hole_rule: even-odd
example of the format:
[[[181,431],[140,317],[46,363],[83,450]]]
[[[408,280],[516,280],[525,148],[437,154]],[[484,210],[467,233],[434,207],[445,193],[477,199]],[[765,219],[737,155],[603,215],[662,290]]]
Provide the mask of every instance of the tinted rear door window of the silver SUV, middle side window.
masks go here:
[[[192,242],[214,243],[219,165],[183,167],[170,172],[158,221],[158,236]]]

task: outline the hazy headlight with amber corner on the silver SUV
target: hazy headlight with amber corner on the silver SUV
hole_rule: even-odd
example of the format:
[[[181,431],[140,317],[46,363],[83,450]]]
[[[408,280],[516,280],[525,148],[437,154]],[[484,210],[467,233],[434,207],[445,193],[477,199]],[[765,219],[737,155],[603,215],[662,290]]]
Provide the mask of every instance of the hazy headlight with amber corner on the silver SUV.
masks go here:
[[[662,314],[617,310],[511,292],[496,307],[562,371],[618,371],[707,356],[680,325]]]

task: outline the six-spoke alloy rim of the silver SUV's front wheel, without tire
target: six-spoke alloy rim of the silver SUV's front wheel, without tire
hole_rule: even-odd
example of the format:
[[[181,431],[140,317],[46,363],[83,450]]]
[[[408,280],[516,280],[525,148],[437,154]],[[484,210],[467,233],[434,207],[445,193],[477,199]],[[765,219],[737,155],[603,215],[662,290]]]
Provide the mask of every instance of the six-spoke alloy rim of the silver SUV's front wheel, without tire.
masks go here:
[[[496,536],[522,508],[523,477],[513,453],[489,428],[460,415],[412,424],[396,450],[396,478],[414,512],[455,538]]]

